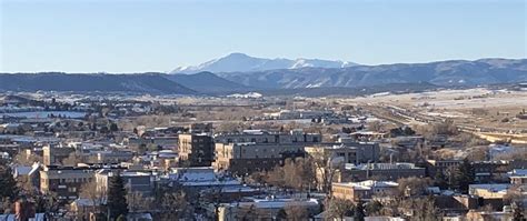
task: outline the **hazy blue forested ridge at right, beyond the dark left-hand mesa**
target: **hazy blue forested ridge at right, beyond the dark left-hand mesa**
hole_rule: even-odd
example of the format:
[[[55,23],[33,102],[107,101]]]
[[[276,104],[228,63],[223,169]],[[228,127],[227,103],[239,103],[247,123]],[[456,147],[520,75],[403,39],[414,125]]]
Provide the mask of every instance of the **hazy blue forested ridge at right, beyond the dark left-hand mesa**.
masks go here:
[[[527,59],[451,60],[430,63],[301,68],[253,72],[219,72],[219,77],[266,89],[371,87],[428,82],[478,86],[527,81]]]

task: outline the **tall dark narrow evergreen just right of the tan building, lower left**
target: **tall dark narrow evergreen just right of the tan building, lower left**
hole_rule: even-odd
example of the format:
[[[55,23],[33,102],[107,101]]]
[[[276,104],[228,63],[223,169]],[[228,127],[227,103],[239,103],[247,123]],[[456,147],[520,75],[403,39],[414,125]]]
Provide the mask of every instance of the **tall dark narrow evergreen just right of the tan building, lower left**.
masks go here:
[[[119,215],[128,213],[127,190],[125,189],[125,181],[120,174],[110,178],[108,187],[108,210],[110,218],[117,219]]]

